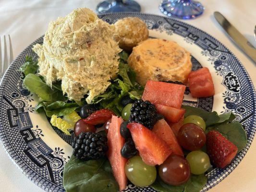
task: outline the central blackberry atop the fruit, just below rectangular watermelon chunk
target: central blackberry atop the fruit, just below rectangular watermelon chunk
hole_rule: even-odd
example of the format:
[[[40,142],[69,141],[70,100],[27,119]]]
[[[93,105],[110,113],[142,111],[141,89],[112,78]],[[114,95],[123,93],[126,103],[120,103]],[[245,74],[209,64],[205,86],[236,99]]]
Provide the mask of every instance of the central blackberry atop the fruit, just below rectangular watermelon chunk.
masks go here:
[[[149,101],[137,100],[131,108],[129,122],[137,122],[148,129],[153,129],[157,122],[157,110]]]

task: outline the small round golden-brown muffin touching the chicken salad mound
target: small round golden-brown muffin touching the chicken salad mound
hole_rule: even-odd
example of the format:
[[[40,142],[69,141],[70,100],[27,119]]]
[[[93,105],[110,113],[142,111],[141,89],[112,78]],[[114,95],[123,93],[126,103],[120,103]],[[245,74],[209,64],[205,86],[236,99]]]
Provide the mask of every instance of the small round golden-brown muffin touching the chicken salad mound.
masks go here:
[[[146,24],[137,17],[127,17],[115,23],[115,40],[119,41],[119,47],[131,52],[133,47],[148,38]]]

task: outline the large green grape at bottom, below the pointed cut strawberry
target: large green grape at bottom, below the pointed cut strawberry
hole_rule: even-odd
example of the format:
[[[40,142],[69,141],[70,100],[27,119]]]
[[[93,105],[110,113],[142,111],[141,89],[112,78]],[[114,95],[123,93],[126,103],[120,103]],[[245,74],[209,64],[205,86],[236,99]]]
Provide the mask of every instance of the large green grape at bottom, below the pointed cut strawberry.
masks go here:
[[[130,158],[124,170],[127,178],[138,187],[151,185],[157,178],[156,167],[146,165],[140,156]]]

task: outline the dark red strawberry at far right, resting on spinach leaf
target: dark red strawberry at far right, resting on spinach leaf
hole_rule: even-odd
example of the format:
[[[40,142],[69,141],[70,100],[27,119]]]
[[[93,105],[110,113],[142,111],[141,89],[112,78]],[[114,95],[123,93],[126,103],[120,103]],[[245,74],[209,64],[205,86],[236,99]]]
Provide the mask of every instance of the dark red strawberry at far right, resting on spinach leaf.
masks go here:
[[[224,168],[231,163],[237,153],[237,146],[222,136],[217,131],[207,133],[207,154],[212,163],[219,168]]]

